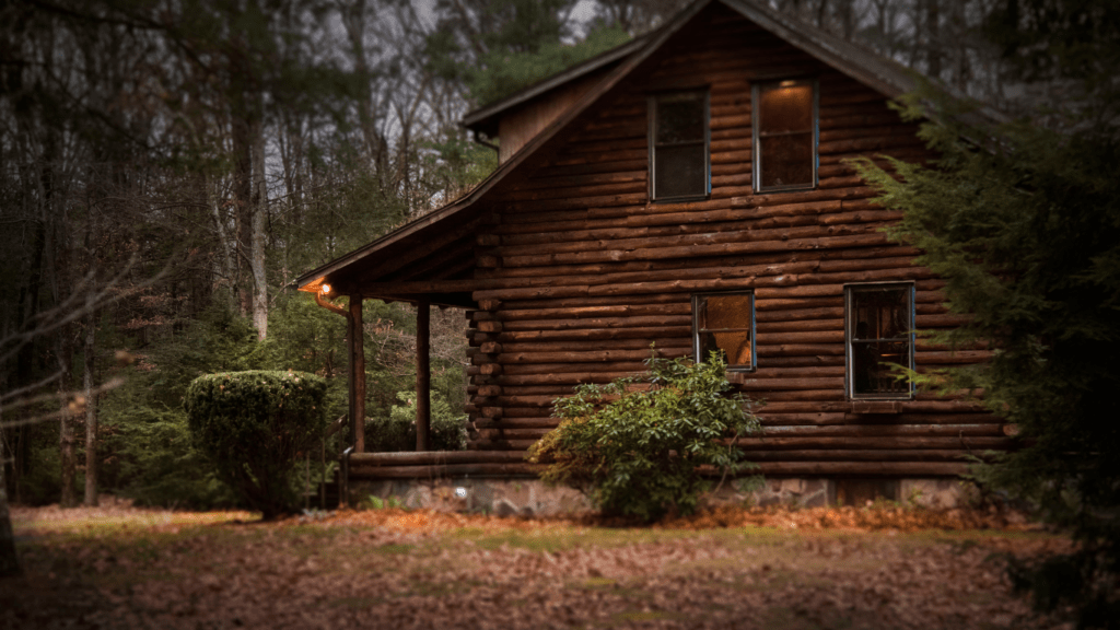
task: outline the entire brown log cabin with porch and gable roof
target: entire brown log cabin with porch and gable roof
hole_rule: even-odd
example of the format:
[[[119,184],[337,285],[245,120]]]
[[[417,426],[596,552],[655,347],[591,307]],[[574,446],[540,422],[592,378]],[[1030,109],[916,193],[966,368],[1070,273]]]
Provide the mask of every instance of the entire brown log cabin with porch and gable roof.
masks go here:
[[[912,73],[754,0],[698,0],[647,36],[466,115],[500,165],[463,197],[305,274],[351,325],[354,450],[363,448],[362,300],[419,306],[427,401],[431,306],[469,319],[469,451],[355,455],[373,478],[531,475],[552,404],[662,356],[728,359],[764,400],[741,438],[771,479],[952,480],[1007,448],[976,405],[916,391],[917,371],[983,361],[915,339],[959,325],[944,282],[888,240],[900,215],[848,160],[933,157],[888,106]],[[348,296],[348,308],[330,300]],[[357,332],[357,334],[355,334]],[[847,485],[846,485],[847,484]],[[860,485],[862,484],[862,485]],[[943,487],[944,484],[942,484]],[[886,489],[886,490],[884,490]]]

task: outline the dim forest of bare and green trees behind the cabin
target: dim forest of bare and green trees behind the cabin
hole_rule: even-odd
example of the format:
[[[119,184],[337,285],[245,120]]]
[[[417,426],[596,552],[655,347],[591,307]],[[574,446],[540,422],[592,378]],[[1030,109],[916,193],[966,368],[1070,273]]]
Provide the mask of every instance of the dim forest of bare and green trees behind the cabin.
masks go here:
[[[1025,0],[1027,1],[1027,0]],[[1030,3],[1029,1],[1027,3]],[[1037,3],[1037,2],[1036,2]],[[8,497],[235,502],[192,446],[215,371],[328,378],[345,322],[290,284],[495,166],[457,121],[682,0],[16,0],[0,8],[0,460]],[[1008,0],[769,0],[1014,114],[1065,86],[991,40]],[[491,139],[493,140],[493,139]],[[410,307],[366,304],[370,416],[407,415]],[[433,314],[433,409],[466,395]],[[394,409],[395,408],[395,409]],[[84,438],[82,437],[84,435]]]

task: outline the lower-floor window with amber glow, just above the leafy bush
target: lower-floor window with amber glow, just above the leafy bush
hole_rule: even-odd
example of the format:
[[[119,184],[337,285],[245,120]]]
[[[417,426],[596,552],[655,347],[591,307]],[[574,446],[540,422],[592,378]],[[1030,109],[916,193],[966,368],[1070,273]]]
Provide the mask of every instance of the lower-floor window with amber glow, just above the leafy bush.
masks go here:
[[[697,361],[711,352],[727,360],[727,368],[755,369],[755,296],[750,293],[698,294],[692,296],[692,350]]]

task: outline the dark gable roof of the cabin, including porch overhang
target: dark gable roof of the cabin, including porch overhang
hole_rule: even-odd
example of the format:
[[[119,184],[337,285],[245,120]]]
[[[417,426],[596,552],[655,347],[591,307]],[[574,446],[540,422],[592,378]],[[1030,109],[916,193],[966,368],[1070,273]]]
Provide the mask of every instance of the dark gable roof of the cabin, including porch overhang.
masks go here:
[[[296,280],[297,287],[305,291],[317,291],[323,284],[330,282],[336,287],[335,294],[346,295],[357,290],[361,278],[365,297],[414,300],[423,295],[433,304],[472,306],[474,302],[470,293],[485,285],[485,280],[473,279],[472,274],[474,229],[491,220],[485,210],[485,200],[502,182],[524,170],[522,167],[531,156],[618,85],[701,10],[717,3],[737,11],[792,46],[885,96],[895,98],[917,86],[917,75],[905,66],[784,16],[757,0],[697,0],[643,38],[467,113],[464,119],[466,127],[492,128],[504,113],[519,105],[545,96],[572,81],[592,76],[597,71],[604,71],[594,87],[466,195],[365,247],[301,275]]]

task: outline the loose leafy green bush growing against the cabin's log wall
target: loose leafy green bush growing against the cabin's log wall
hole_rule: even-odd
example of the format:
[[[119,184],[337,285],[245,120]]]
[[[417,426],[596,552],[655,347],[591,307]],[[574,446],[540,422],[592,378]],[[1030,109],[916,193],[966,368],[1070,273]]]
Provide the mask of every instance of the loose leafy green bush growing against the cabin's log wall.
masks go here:
[[[556,401],[560,426],[533,445],[541,475],[587,493],[605,513],[656,520],[696,510],[708,489],[700,466],[737,473],[753,464],[727,438],[759,430],[741,396],[727,396],[727,364],[651,359],[644,378],[584,385]],[[648,381],[645,391],[633,387]]]

